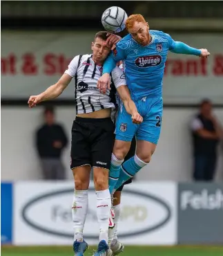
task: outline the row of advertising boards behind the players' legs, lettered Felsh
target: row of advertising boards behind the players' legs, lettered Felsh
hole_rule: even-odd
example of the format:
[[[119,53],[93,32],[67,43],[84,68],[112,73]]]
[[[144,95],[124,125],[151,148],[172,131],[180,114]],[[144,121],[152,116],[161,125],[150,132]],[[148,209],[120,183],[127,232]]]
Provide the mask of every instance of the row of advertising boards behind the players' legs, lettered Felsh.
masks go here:
[[[1,183],[1,243],[70,245],[73,182]],[[90,184],[84,237],[97,244]],[[122,194],[119,239],[128,245],[222,244],[223,184],[135,182]]]

